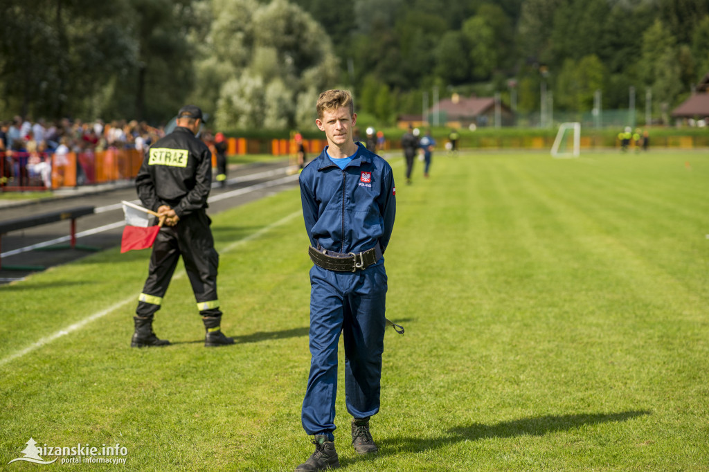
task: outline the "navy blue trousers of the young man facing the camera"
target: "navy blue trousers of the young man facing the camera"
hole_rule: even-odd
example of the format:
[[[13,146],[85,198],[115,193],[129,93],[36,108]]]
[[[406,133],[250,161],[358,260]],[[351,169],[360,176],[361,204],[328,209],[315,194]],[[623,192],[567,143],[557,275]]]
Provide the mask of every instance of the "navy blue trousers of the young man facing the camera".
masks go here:
[[[337,342],[345,344],[345,403],[355,418],[379,411],[384,352],[384,261],[363,271],[335,272],[313,266],[311,276],[311,370],[303,400],[307,434],[334,439]]]

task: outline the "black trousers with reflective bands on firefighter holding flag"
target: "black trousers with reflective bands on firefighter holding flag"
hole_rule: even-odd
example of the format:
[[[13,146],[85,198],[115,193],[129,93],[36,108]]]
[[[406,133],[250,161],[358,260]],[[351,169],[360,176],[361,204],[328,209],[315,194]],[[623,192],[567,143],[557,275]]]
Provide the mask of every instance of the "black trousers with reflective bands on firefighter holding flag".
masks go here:
[[[176,226],[160,228],[152,245],[150,268],[143,293],[138,298],[136,315],[152,318],[160,310],[162,298],[182,256],[200,315],[221,316],[217,297],[219,254],[214,249],[210,224],[206,211],[199,210],[180,218]]]

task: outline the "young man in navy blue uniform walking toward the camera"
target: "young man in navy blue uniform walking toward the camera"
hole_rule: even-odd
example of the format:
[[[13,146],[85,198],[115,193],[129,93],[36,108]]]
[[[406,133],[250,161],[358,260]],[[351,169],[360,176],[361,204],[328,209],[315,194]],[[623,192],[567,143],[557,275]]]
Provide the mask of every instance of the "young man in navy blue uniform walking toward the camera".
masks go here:
[[[313,260],[311,370],[302,423],[315,452],[296,471],[340,466],[335,451],[337,342],[345,344],[345,395],[352,415],[352,445],[378,450],[369,417],[379,411],[384,352],[386,272],[382,254],[396,213],[391,166],[352,139],[357,123],[352,95],[328,90],[317,102],[316,124],[328,146],[300,175],[303,218]]]

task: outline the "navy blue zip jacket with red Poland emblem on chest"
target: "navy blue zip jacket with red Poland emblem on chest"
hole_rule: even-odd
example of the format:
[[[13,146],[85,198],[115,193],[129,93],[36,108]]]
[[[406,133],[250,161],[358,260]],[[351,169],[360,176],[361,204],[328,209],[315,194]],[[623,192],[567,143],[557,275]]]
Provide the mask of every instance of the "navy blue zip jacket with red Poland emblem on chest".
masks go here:
[[[306,231],[313,247],[359,253],[379,242],[384,254],[396,214],[396,188],[391,166],[358,145],[344,170],[327,147],[301,172],[301,201]]]

